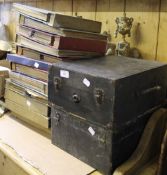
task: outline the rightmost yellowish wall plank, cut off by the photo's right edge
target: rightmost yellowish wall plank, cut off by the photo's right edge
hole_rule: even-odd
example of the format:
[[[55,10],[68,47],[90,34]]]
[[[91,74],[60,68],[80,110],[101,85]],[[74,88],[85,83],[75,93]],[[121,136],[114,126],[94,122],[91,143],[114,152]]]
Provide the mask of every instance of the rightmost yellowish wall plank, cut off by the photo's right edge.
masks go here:
[[[167,62],[167,0],[161,1],[157,60]]]

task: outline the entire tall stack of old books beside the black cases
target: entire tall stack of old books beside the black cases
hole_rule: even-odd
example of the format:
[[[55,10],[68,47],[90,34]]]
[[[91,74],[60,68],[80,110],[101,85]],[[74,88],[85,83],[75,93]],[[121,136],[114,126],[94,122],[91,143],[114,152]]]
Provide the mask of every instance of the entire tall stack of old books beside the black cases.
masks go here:
[[[102,56],[107,37],[101,23],[65,16],[21,4],[18,12],[16,54],[8,54],[12,71],[6,81],[6,107],[40,129],[50,127],[48,70],[52,63]]]

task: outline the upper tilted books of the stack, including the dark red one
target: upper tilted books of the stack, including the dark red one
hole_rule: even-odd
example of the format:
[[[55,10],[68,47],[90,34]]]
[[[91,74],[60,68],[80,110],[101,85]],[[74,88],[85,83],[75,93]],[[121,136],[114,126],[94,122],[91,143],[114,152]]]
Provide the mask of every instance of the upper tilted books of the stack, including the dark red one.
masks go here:
[[[107,36],[101,35],[101,22],[66,16],[21,4],[17,46],[49,54],[61,59],[81,59],[103,56]],[[19,48],[20,49],[20,48]]]

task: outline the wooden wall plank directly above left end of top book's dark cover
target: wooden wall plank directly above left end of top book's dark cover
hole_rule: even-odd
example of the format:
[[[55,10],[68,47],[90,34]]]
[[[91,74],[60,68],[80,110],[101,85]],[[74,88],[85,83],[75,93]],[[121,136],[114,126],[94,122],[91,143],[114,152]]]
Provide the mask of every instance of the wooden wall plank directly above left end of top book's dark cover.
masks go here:
[[[72,15],[72,0],[54,0],[53,10],[65,15]]]

